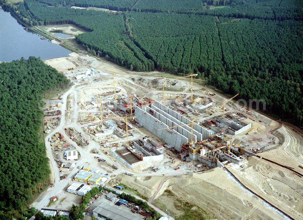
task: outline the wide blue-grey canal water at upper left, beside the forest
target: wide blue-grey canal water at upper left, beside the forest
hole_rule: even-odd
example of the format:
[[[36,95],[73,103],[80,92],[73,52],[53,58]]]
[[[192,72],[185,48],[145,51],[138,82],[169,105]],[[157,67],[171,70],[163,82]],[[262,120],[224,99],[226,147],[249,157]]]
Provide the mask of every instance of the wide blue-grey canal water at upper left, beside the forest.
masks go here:
[[[29,56],[50,59],[71,53],[58,44],[52,44],[48,39],[41,40],[40,37],[25,31],[23,26],[0,6],[0,62],[10,62],[21,57],[27,59]]]

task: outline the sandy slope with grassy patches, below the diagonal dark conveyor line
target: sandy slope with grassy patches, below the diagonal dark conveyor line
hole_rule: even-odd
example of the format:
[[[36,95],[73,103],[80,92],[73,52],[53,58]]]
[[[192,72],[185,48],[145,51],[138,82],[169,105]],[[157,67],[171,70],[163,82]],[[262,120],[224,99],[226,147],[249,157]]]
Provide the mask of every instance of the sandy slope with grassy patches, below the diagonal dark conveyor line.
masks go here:
[[[122,183],[151,197],[164,177],[119,177]],[[283,219],[273,209],[264,206],[261,199],[242,188],[221,168],[193,174],[187,178],[169,178],[159,190],[154,204],[172,215],[183,214],[180,202],[200,207],[217,219]]]

